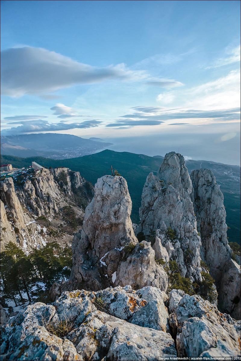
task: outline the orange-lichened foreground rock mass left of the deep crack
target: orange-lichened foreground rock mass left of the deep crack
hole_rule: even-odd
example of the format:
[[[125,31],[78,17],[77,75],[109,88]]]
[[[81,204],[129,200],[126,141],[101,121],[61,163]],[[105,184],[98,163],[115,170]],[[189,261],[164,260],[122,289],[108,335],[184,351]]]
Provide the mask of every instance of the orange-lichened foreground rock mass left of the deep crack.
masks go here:
[[[149,290],[152,296],[160,292],[151,287]],[[171,335],[150,328],[151,319],[146,327],[125,321],[149,303],[127,286],[98,292],[64,292],[53,305],[27,306],[3,329],[2,359],[158,360],[160,356],[175,357]],[[159,316],[166,320],[166,313],[164,309],[164,314],[160,311]],[[145,311],[143,317],[146,317]],[[51,327],[57,330],[61,321],[71,325],[62,339],[51,333]]]

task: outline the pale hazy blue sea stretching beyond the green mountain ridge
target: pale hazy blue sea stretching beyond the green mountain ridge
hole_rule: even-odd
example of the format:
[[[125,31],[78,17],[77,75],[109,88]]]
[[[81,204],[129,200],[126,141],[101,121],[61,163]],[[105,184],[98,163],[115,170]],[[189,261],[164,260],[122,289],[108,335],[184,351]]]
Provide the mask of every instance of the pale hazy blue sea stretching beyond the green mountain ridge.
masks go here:
[[[240,136],[237,133],[232,139],[221,140],[226,133],[221,134],[152,134],[146,136],[130,136],[121,138],[106,138],[112,142],[108,146],[116,152],[130,152],[147,156],[161,155],[175,151],[186,159],[208,160],[224,164],[240,165]],[[187,140],[188,138],[188,140]],[[225,139],[225,138],[224,138]],[[225,147],[225,151],[224,151]],[[96,153],[101,152],[97,150]]]

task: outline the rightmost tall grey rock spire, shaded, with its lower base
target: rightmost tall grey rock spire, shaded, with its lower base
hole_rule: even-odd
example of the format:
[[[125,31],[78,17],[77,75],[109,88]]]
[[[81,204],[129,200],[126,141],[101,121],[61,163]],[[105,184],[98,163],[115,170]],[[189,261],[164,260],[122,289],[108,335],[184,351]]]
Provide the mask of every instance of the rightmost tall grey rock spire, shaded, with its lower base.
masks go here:
[[[231,260],[223,194],[209,169],[193,170],[193,203],[202,237],[201,254],[219,292],[219,307],[240,319],[240,266]]]

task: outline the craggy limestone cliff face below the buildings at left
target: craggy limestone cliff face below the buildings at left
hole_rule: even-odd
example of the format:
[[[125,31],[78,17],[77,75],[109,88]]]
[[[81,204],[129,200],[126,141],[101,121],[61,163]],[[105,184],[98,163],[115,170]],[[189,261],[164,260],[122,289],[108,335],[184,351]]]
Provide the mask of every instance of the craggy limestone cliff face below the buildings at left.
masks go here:
[[[71,204],[76,217],[83,219],[83,208],[92,196],[91,184],[68,168],[43,168],[26,177],[21,186],[14,186],[11,177],[1,181],[1,251],[10,241],[25,252],[51,242],[46,224],[36,218],[43,216],[57,228],[59,224],[67,226],[63,207]],[[65,234],[65,242],[71,241],[72,236]]]

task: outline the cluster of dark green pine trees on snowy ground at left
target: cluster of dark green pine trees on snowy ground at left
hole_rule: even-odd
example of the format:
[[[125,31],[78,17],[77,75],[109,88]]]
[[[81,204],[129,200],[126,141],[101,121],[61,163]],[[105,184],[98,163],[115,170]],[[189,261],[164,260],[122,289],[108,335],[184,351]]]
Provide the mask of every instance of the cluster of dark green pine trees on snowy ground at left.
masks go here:
[[[72,268],[72,249],[67,244],[60,247],[57,242],[47,243],[41,249],[35,249],[28,256],[9,242],[5,251],[1,252],[1,291],[5,299],[17,303],[24,302],[27,295],[29,302],[33,296],[38,296],[41,287],[32,285],[43,282],[46,288],[59,279],[68,279]],[[39,289],[38,289],[39,288]]]

